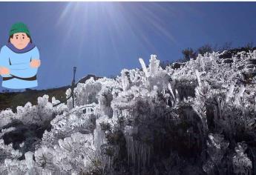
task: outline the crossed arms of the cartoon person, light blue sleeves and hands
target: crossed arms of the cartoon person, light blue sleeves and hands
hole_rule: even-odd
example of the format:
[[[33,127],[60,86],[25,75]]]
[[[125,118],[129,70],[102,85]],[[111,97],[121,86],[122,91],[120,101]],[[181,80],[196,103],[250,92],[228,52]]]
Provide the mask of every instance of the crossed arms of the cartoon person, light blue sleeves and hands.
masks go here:
[[[41,65],[39,59],[39,51],[35,50],[33,56],[31,56],[31,62],[21,63],[16,65],[10,65],[9,57],[2,52],[0,53],[0,75],[3,77],[19,76],[27,78],[35,76],[37,68]]]

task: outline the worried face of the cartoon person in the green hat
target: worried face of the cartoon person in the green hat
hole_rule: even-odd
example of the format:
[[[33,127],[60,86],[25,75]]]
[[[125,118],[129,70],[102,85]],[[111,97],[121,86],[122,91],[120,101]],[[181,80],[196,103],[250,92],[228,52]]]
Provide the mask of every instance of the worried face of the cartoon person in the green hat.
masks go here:
[[[30,38],[26,33],[14,33],[13,38],[10,38],[10,43],[19,50],[24,49],[30,42]]]

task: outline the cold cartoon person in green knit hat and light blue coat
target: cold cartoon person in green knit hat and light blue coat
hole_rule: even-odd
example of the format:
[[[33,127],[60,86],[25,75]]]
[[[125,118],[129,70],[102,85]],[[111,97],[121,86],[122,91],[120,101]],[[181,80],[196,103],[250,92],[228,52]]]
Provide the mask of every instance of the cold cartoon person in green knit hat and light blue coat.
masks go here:
[[[33,44],[26,24],[13,24],[9,41],[1,47],[0,74],[2,87],[23,89],[38,85],[36,73],[41,65],[39,50]]]

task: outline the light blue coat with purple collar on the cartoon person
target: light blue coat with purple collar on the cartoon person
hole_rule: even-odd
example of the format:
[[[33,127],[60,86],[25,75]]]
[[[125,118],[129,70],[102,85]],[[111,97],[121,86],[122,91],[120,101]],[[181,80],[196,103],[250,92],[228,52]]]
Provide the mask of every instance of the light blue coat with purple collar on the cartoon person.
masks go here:
[[[23,50],[16,49],[16,47],[10,43],[1,47],[0,67],[7,67],[10,70],[10,74],[1,76],[18,77],[3,80],[1,84],[2,87],[7,87],[10,89],[36,87],[38,83],[35,77],[35,80],[19,79],[36,76],[38,68],[30,67],[30,62],[33,59],[39,59],[39,50],[34,44],[28,44]]]

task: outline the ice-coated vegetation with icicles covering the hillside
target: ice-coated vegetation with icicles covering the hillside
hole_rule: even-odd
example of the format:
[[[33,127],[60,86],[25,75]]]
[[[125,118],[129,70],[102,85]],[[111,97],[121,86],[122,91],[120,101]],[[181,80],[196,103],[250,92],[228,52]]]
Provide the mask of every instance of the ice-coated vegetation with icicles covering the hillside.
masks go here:
[[[256,50],[88,79],[0,113],[1,174],[256,174]],[[67,90],[67,97],[71,90]]]

